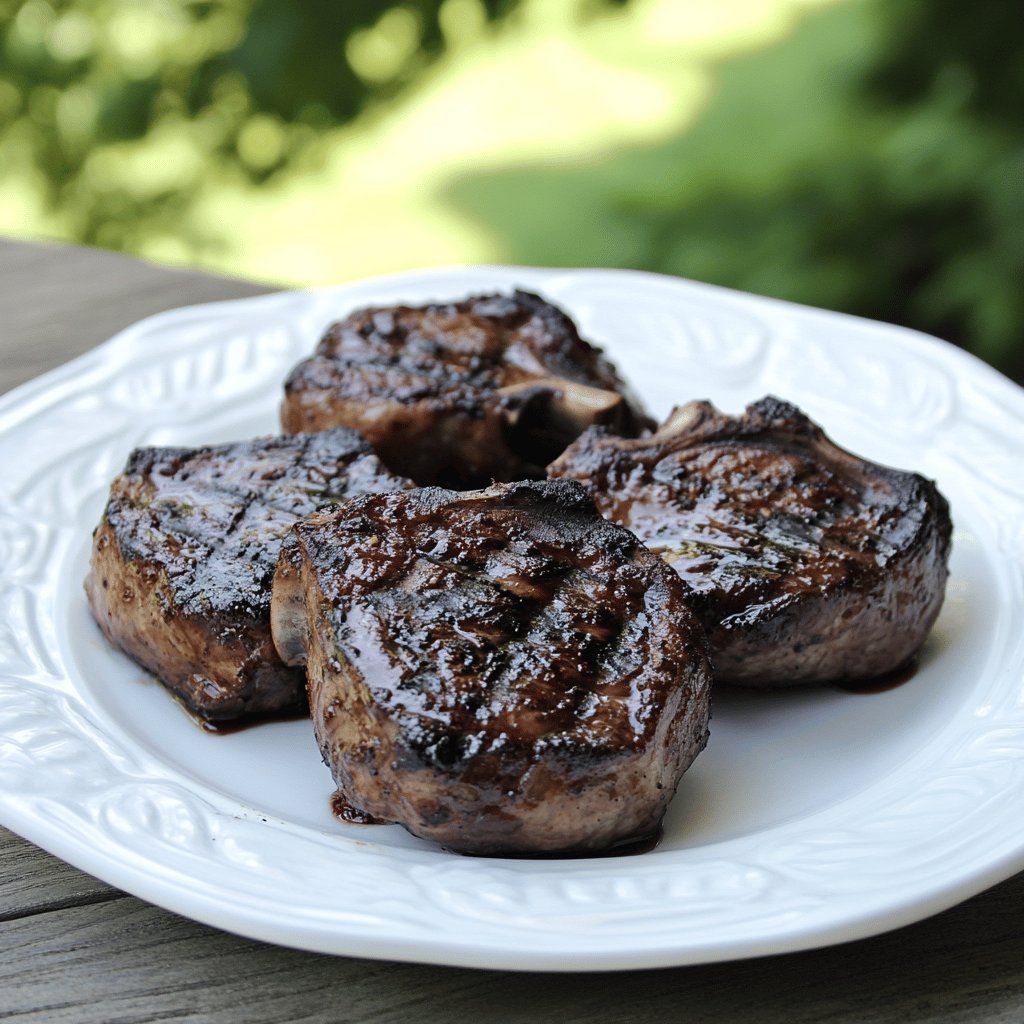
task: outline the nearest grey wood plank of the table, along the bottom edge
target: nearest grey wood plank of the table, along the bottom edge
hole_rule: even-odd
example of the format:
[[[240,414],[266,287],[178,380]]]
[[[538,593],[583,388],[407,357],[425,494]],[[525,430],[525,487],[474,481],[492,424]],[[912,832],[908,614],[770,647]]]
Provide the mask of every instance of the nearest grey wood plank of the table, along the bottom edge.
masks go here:
[[[126,897],[0,925],[0,1012],[47,1024],[1019,1024],[1022,900],[1018,878],[932,921],[829,949],[546,975],[282,949]]]

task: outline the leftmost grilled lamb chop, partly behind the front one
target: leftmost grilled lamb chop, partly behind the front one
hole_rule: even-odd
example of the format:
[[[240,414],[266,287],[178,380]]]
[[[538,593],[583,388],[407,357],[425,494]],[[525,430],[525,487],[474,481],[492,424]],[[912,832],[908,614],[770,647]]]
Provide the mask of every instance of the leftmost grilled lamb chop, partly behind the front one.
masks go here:
[[[305,706],[270,638],[270,581],[299,516],[412,486],[353,431],[138,449],[93,535],[89,606],[112,643],[210,721]]]

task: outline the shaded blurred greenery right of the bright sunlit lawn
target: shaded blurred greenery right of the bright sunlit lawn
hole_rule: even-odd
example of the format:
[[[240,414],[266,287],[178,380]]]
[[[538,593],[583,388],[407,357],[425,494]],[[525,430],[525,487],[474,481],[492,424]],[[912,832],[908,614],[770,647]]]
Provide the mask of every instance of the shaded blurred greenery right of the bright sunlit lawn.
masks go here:
[[[837,5],[720,61],[684,132],[597,166],[466,177],[456,200],[513,262],[628,265],[901,324],[1024,383],[1017,20],[1011,4]]]

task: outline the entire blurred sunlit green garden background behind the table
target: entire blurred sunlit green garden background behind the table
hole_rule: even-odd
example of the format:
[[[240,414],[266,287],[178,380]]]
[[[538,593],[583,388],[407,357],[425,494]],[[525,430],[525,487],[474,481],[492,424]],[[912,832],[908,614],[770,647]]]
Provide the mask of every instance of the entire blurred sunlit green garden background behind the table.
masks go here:
[[[1024,33],[987,0],[0,0],[0,233],[282,285],[682,274],[1024,380]]]

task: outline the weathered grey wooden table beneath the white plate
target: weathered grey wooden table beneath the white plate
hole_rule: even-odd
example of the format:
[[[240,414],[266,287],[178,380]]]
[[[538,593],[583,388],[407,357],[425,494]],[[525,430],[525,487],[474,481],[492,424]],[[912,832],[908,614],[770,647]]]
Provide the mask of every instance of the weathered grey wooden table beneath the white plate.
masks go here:
[[[0,392],[148,313],[262,290],[100,252],[0,242]],[[375,963],[207,928],[0,828],[0,1018],[1020,1024],[1022,920],[1024,874],[889,935],[732,964],[565,975]]]

